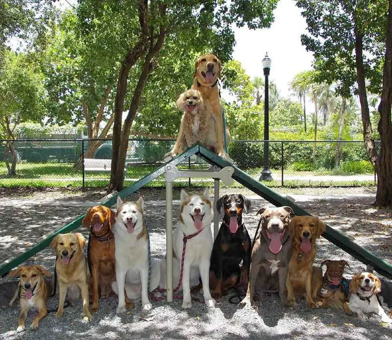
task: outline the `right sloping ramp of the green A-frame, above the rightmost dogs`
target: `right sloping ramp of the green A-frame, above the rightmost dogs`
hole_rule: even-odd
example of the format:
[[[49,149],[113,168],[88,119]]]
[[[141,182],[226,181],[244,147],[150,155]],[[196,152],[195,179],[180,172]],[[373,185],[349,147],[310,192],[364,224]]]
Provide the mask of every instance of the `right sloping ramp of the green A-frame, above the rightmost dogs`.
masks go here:
[[[306,210],[298,207],[295,203],[289,201],[287,198],[279,195],[278,193],[271,190],[268,186],[260,183],[254,178],[247,175],[245,172],[237,168],[235,165],[230,164],[226,160],[222,159],[210,150],[207,150],[203,146],[199,147],[199,152],[197,154],[199,157],[208,161],[213,165],[218,165],[221,168],[225,166],[232,166],[234,168],[233,178],[243,184],[248,189],[252,190],[259,196],[263,197],[274,206],[289,206],[291,207],[295,214],[297,215],[310,215]],[[356,258],[357,260],[365,263],[366,265],[372,265],[374,270],[385,277],[392,279],[392,266],[387,262],[377,258],[375,255],[371,254],[365,248],[362,248],[357,243],[350,240],[347,236],[343,235],[339,230],[336,230],[330,226],[326,226],[326,230],[322,235],[328,241],[332,242],[339,248],[343,249],[345,252]]]

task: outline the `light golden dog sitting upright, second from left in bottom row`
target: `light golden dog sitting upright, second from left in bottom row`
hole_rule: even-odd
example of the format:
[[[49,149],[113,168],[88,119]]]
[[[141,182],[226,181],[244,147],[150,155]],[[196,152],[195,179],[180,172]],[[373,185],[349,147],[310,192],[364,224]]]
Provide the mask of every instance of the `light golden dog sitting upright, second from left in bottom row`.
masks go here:
[[[87,261],[83,254],[86,239],[80,233],[58,234],[50,247],[56,251],[56,274],[59,286],[59,301],[56,316],[63,315],[65,297],[74,294],[80,289],[83,299],[83,318],[91,320],[89,311],[89,288],[87,285],[88,269]]]

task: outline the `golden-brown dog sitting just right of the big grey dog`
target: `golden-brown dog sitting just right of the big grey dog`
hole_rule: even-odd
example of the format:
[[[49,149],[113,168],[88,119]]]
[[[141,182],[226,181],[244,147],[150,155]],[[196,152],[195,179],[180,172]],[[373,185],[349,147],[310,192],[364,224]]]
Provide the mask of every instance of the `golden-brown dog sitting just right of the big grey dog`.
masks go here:
[[[306,302],[315,308],[315,299],[322,280],[320,267],[313,267],[316,257],[316,240],[325,230],[325,225],[315,216],[295,216],[290,221],[293,238],[293,253],[286,280],[287,301],[294,307],[295,296],[305,294]]]

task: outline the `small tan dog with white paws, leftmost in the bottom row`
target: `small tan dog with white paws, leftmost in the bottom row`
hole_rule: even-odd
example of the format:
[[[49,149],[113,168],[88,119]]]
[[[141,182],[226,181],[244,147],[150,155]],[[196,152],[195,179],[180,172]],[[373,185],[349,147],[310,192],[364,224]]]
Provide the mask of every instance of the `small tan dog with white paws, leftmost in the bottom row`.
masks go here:
[[[40,265],[22,265],[9,274],[9,277],[19,276],[21,278],[18,289],[9,303],[11,307],[19,295],[21,312],[17,332],[26,329],[25,320],[31,308],[37,308],[38,314],[35,315],[30,329],[37,329],[38,322],[48,314],[46,303],[52,289],[50,282],[44,278],[44,275],[50,277],[52,274]]]

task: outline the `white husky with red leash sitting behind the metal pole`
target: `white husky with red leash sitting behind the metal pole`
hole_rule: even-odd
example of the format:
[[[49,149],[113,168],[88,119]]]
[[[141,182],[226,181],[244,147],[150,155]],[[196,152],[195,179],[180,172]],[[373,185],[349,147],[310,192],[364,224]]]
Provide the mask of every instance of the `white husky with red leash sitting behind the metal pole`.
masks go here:
[[[173,231],[173,288],[178,285],[184,236],[196,236],[187,240],[185,250],[182,288],[182,308],[191,308],[191,284],[197,285],[199,276],[203,285],[204,301],[208,307],[215,305],[209,287],[210,256],[213,245],[211,221],[213,210],[208,188],[203,194],[189,195],[181,190],[180,215],[177,228]],[[161,262],[160,287],[166,288],[166,261]]]

